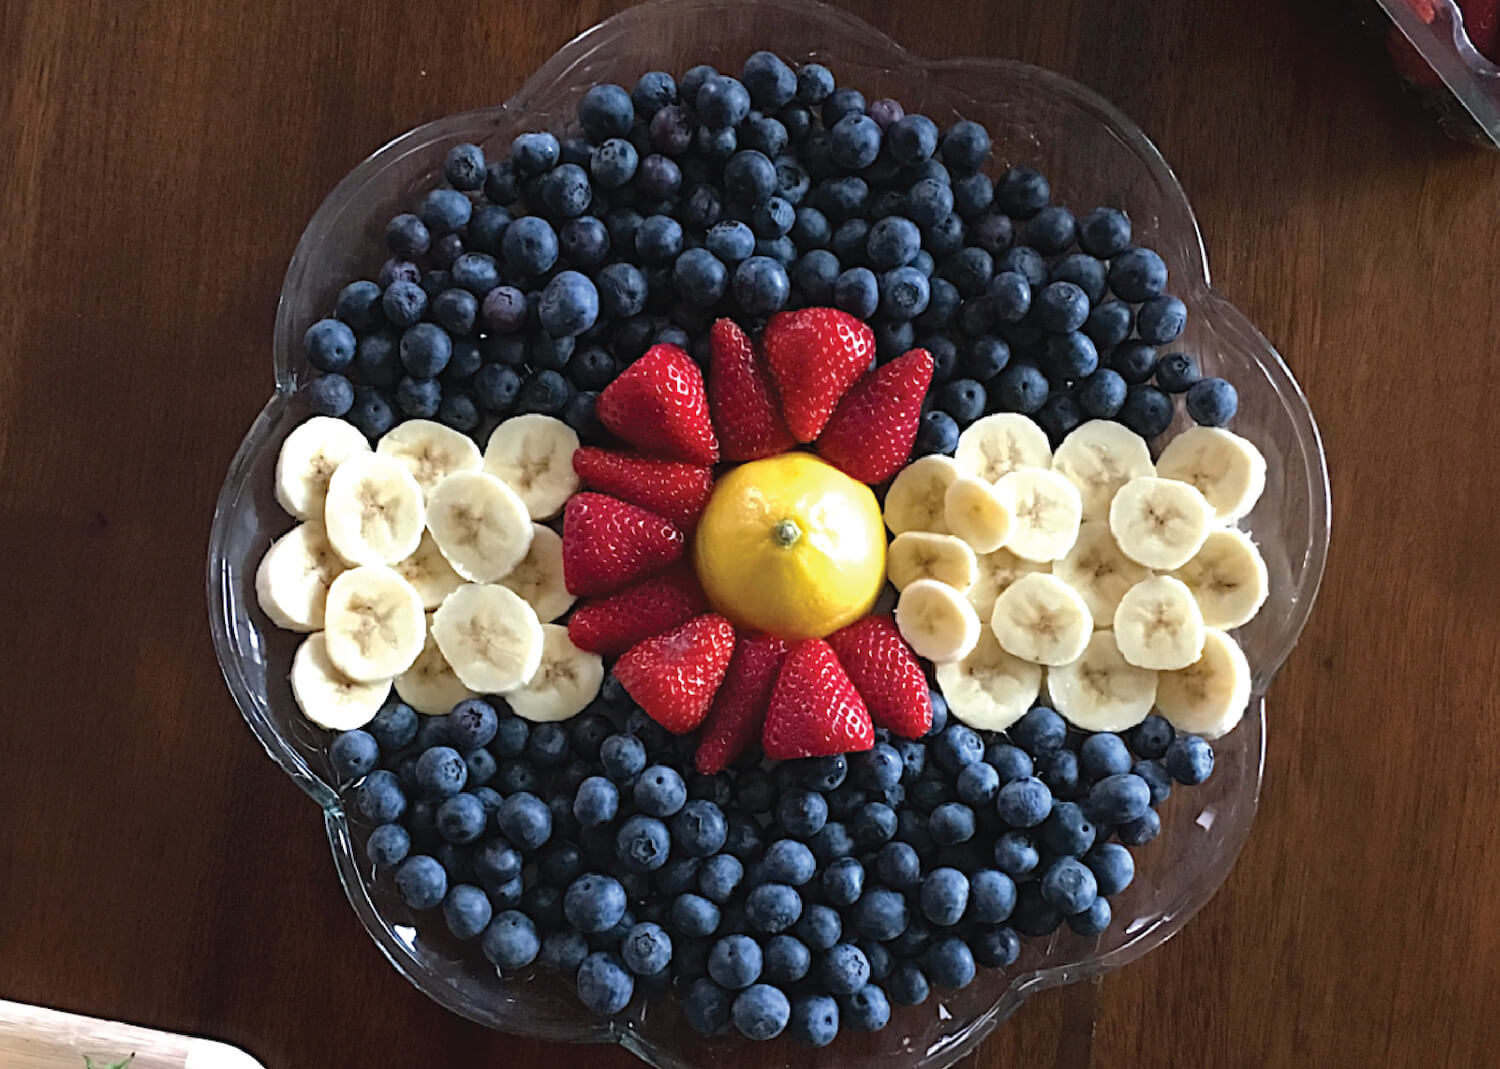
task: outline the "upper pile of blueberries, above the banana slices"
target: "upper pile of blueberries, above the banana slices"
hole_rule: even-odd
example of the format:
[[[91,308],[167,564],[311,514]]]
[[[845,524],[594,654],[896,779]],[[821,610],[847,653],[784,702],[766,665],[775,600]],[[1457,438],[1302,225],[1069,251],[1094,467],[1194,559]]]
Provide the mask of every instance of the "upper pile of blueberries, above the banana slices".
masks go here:
[[[1186,309],[1130,219],[1053,205],[1038,171],[982,169],[975,121],[939,129],[836,87],[816,63],[756,52],[741,78],[698,66],[596,85],[578,132],[507,157],[454,145],[446,184],[387,228],[392,258],[306,333],[304,394],[369,436],[402,418],[483,435],[522,412],[591,439],[597,393],[657,342],[706,360],[708,327],[784,307],[868,319],[878,358],[927,348],[916,453],[1026,412],[1058,441],[1088,418],[1154,438],[1222,426],[1234,388],[1184,352]]]

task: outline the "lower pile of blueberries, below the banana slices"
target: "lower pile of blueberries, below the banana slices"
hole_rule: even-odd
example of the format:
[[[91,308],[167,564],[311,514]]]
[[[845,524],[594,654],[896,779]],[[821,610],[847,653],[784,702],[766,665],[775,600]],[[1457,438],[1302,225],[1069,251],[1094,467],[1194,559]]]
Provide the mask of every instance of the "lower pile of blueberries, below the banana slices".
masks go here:
[[[1023,936],[1102,933],[1126,847],[1214,769],[1160,717],[1078,736],[1036,706],[1000,735],[936,693],[933,712],[920,741],[684,778],[696,741],[608,676],[562,724],[393,702],[330,762],[374,867],[502,975],[561,973],[600,1015],[672,993],[705,1035],[820,1047],[1014,963]]]

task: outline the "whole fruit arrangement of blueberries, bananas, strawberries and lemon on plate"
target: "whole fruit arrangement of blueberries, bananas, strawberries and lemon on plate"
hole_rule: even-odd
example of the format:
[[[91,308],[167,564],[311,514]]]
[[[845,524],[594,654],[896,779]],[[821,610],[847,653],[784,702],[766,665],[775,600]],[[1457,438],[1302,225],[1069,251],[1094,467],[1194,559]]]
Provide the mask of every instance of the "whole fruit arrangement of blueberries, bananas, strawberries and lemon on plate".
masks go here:
[[[988,156],[650,72],[308,328],[256,595],[418,924],[814,1047],[1110,925],[1250,703],[1266,465],[1130,219]]]

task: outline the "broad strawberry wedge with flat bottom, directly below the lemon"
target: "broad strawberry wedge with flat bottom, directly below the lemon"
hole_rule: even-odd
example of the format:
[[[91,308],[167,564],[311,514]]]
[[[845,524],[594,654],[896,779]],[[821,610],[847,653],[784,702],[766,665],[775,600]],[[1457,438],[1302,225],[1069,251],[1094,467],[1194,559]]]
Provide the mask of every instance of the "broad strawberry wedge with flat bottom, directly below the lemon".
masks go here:
[[[831,757],[873,745],[870,714],[838,666],[832,646],[822,639],[792,646],[765,712],[760,733],[765,756],[771,760]]]

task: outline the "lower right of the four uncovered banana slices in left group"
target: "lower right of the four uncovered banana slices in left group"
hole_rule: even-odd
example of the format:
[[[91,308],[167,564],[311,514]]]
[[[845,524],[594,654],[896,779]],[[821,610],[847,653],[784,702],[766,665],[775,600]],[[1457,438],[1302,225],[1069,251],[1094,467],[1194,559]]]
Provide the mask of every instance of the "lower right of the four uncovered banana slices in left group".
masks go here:
[[[453,675],[482,694],[522,687],[542,664],[542,621],[536,610],[495,583],[466,583],[453,591],[432,613],[432,637]]]

